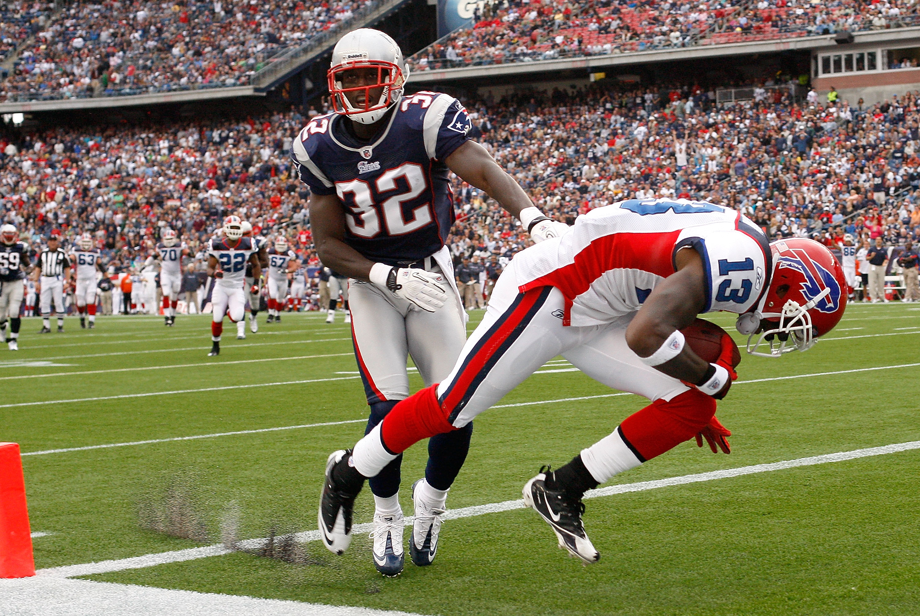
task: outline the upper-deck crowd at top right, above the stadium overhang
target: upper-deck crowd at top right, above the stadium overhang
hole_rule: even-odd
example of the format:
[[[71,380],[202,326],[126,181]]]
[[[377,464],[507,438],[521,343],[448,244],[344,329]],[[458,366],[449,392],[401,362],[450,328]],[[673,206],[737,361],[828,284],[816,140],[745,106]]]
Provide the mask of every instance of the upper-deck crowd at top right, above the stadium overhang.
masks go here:
[[[915,0],[496,0],[415,54],[414,70],[914,25]]]

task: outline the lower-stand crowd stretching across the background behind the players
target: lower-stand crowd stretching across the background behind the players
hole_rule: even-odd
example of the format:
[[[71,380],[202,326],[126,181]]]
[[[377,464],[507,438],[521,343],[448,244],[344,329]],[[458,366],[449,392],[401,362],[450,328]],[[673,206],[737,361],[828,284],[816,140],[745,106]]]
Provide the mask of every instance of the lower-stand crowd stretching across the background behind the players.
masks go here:
[[[719,106],[714,92],[696,86],[603,84],[466,100],[478,139],[559,220],[616,200],[670,197],[730,205],[771,238],[809,236],[832,247],[845,234],[857,245],[920,239],[916,92],[856,108],[757,87],[755,100]],[[224,215],[238,213],[257,234],[292,241],[316,307],[309,193],[289,158],[305,121],[292,111],[6,137],[3,222],[16,224],[34,249],[52,229],[62,230],[65,245],[88,231],[117,276],[143,268],[167,228],[203,270],[207,240]],[[479,285],[467,300],[478,305],[529,240],[486,195],[454,182],[457,222],[447,243],[458,276]]]

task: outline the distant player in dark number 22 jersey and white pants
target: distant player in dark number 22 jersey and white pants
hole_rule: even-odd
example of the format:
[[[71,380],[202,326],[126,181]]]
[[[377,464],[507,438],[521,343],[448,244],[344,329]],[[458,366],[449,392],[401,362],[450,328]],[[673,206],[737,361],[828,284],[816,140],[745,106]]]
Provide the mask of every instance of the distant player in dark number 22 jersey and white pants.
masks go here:
[[[239,216],[224,218],[223,232],[222,237],[213,237],[208,243],[208,276],[214,278],[214,287],[211,291],[213,346],[208,357],[221,354],[224,314],[236,323],[236,339],[246,338],[244,278],[247,263],[252,265],[255,278],[258,279],[262,273],[259,248],[252,237],[243,236],[243,222]]]

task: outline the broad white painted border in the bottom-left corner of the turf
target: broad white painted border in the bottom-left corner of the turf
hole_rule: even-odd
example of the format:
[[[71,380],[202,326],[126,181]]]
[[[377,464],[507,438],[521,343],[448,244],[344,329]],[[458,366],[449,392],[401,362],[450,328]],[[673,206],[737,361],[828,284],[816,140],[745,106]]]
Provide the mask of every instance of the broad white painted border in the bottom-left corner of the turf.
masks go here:
[[[47,576],[0,579],[0,595],[6,616],[411,616],[404,611]]]

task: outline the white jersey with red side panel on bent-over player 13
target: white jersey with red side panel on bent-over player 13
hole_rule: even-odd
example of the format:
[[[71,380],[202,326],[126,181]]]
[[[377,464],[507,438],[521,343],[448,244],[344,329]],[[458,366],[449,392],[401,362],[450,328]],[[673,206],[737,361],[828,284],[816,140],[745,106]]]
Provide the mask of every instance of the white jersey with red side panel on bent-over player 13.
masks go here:
[[[592,210],[569,231],[513,260],[520,290],[553,286],[566,298],[564,325],[601,325],[637,311],[671,276],[674,256],[692,247],[703,258],[704,313],[744,313],[772,271],[764,233],[741,213],[706,201],[625,200]]]

